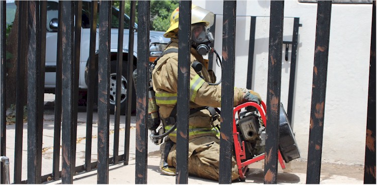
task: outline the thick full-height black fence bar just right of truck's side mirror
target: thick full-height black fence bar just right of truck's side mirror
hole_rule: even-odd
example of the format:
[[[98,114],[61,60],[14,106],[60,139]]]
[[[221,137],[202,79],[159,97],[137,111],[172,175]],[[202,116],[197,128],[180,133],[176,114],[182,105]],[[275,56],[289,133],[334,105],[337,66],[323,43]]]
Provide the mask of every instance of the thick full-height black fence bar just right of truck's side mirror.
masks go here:
[[[62,183],[73,183],[74,153],[73,127],[75,116],[74,106],[74,50],[73,50],[73,30],[74,30],[74,6],[72,1],[62,2]]]

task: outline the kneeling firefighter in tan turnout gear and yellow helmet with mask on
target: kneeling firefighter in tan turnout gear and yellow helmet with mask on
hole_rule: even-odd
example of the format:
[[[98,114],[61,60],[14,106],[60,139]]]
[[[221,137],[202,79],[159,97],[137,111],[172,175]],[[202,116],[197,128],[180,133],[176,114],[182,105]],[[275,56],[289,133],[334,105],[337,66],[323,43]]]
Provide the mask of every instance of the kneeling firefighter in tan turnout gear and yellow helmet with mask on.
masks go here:
[[[178,16],[179,9],[175,9],[170,17],[170,28],[164,37],[170,38],[165,51],[175,48],[175,52],[160,57],[152,71],[153,90],[156,103],[165,130],[169,130],[175,123],[171,119],[171,112],[177,103],[177,72],[178,72]],[[200,62],[203,66],[198,72],[190,67],[190,119],[189,119],[189,174],[203,178],[219,179],[219,115],[211,115],[207,107],[220,107],[221,86],[215,85],[216,76],[208,70],[208,60],[203,56],[210,52],[212,34],[208,28],[213,25],[214,14],[201,7],[192,6],[192,48],[191,64]],[[244,102],[260,103],[258,93],[244,88],[234,88],[234,106]],[[175,110],[176,111],[176,110]],[[212,113],[213,114],[213,113]],[[174,115],[175,116],[175,115]],[[215,116],[215,117],[214,117]],[[174,122],[174,123],[173,123]],[[176,130],[165,137],[161,144],[161,173],[175,175],[176,166]],[[232,158],[232,180],[238,179],[238,169],[234,157]]]

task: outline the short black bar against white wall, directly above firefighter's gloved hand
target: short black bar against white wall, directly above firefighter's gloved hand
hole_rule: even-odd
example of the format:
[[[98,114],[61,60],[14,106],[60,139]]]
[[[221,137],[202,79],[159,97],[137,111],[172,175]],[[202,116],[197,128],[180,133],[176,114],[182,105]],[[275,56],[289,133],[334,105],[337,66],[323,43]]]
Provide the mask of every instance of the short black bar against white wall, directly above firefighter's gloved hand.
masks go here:
[[[254,47],[255,47],[255,26],[256,17],[250,17],[250,36],[249,36],[249,59],[247,62],[247,79],[246,88],[252,89],[253,85],[253,67],[254,67]]]

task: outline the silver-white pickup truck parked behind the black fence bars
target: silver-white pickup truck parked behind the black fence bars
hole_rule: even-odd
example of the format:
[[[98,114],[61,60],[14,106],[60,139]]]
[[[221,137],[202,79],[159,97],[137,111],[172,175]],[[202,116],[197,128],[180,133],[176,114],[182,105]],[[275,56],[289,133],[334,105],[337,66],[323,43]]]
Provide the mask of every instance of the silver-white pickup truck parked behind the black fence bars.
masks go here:
[[[11,24],[14,21],[16,13],[16,5],[14,1],[7,1],[7,25]],[[79,90],[80,96],[85,97],[85,92],[87,91],[87,62],[89,58],[89,42],[90,42],[90,8],[91,1],[82,2],[82,28],[81,28],[81,49],[80,49],[80,67],[79,67]],[[99,9],[98,9],[99,10]],[[114,111],[115,104],[115,89],[116,86],[116,63],[117,63],[117,52],[118,52],[118,24],[119,24],[119,9],[112,7],[111,11],[111,74],[110,74],[110,109],[111,112]],[[97,14],[98,15],[98,14]],[[98,21],[99,19],[97,19]],[[129,22],[130,18],[125,14],[124,15],[124,36],[123,36],[123,69],[122,69],[122,90],[121,90],[121,113],[125,113],[126,107],[126,95],[127,95],[127,60],[128,60],[128,40],[129,40]],[[57,59],[57,23],[58,23],[58,1],[48,1],[47,2],[47,34],[46,34],[46,73],[45,73],[45,92],[46,93],[55,93],[55,81],[56,73],[48,72],[50,69],[56,67]],[[99,49],[99,24],[97,24],[97,39],[96,39],[96,59],[98,59],[98,49]],[[136,69],[137,62],[137,24],[134,25],[136,32],[134,33],[134,56],[133,66]],[[170,40],[163,37],[164,32],[150,31],[150,47],[151,53],[160,53],[158,50],[164,49],[164,44],[168,43]],[[156,44],[154,43],[162,43]],[[164,43],[164,44],[163,44]],[[157,50],[156,50],[157,48]],[[53,70],[50,70],[53,71]],[[133,90],[135,93],[135,90]],[[133,94],[134,94],[133,93]],[[95,93],[96,95],[98,93]],[[97,99],[97,98],[95,98]],[[135,109],[135,94],[133,95],[133,110]],[[81,104],[85,104],[82,102]]]

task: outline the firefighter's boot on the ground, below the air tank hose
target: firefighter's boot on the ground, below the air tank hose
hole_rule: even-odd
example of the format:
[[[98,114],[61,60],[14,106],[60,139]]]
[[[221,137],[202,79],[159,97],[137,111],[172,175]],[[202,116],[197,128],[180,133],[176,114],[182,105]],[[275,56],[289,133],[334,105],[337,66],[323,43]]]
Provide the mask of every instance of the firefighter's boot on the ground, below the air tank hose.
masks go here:
[[[173,144],[174,143],[168,137],[166,137],[165,141],[160,146],[160,152],[161,152],[160,170],[162,174],[170,175],[170,176],[175,176],[175,167],[169,166],[167,164],[167,156]]]

